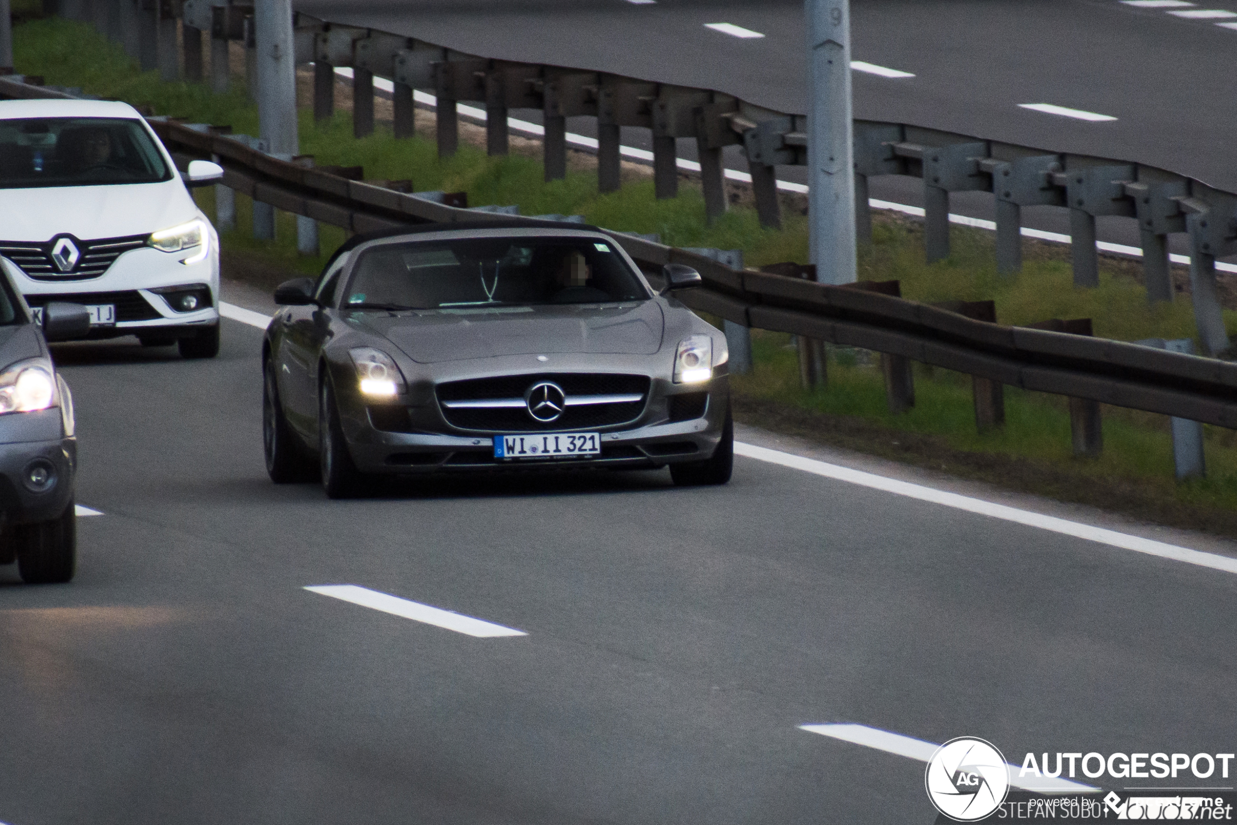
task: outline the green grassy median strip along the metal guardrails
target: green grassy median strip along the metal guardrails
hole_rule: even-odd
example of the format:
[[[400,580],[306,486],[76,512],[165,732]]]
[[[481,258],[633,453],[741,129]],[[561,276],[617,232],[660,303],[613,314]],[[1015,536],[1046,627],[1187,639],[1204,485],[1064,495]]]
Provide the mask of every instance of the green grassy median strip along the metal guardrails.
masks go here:
[[[156,114],[230,124],[235,132],[257,131],[256,109],[242,90],[215,95],[202,85],[162,83],[153,73],[140,73],[119,48],[87,26],[35,20],[20,25],[14,40],[17,71],[43,74],[47,83],[79,85],[96,95],[150,106]],[[319,165],[360,165],[367,178],[412,178],[418,189],[466,190],[473,204],[518,204],[522,214],[583,214],[601,226],[659,233],[666,242],[679,246],[740,247],[755,266],[807,259],[802,214],[788,210],[787,229],[769,231],[760,228],[751,209],[738,207],[706,226],[694,184],[683,186],[674,200],[657,200],[651,179],[628,181],[621,192],[600,195],[595,176],[586,171],[544,183],[539,161],[527,155],[491,158],[465,145],[454,158],[440,162],[432,140],[396,141],[382,124],[374,136],[354,140],[345,113],[319,126],[302,111],[301,140],[302,151],[314,155]],[[199,190],[208,214],[212,197]],[[238,224],[244,228],[249,203],[238,202]],[[1123,340],[1195,335],[1185,297],[1148,308],[1137,265],[1102,260],[1101,286],[1079,289],[1072,286],[1066,250],[1037,245],[1028,251],[1024,272],[1004,280],[996,273],[988,233],[954,228],[952,256],[928,266],[914,221],[878,216],[876,224],[872,246],[861,252],[860,277],[898,278],[908,298],[991,298],[1003,323],[1089,317],[1097,335]],[[233,231],[223,244],[230,255],[244,255],[271,270],[319,270],[322,257],[296,254],[289,215],[280,215],[277,235],[273,244],[266,244],[244,230]],[[340,230],[323,226],[324,252],[343,237]],[[1233,313],[1228,320],[1230,328],[1237,328]],[[1064,398],[1008,388],[1004,429],[980,435],[967,376],[917,367],[917,406],[891,416],[880,374],[865,362],[865,354],[831,350],[829,386],[807,392],[798,386],[788,338],[757,330],[753,339],[757,369],[734,381],[740,417],[751,423],[1166,523],[1237,534],[1237,433],[1209,427],[1209,477],[1178,484],[1168,421],[1162,416],[1106,407],[1103,455],[1076,460],[1070,454]]]

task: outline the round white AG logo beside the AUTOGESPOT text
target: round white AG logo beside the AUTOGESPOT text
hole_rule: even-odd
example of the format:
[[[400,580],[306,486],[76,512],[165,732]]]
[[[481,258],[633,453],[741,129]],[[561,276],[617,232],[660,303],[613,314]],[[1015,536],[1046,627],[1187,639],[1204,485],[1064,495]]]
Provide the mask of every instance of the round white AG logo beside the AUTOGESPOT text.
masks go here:
[[[936,748],[924,773],[936,810],[959,823],[983,819],[1009,793],[1009,768],[991,742],[959,736]]]

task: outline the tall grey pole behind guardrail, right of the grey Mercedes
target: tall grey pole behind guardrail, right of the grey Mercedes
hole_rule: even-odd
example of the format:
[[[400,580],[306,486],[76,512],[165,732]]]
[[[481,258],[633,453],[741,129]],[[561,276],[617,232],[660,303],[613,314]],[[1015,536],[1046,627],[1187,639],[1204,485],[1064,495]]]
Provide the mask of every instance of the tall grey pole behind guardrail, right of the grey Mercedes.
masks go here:
[[[855,150],[850,0],[805,0],[808,28],[808,215],[816,281],[854,283]]]

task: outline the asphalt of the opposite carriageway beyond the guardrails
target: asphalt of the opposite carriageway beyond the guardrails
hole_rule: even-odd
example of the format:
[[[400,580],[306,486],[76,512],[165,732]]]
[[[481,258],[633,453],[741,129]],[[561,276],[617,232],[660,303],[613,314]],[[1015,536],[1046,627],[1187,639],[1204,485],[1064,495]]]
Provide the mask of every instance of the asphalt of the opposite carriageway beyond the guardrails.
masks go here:
[[[719,89],[782,111],[805,111],[799,0],[297,0],[297,9],[463,52]],[[913,74],[855,72],[855,116],[1137,161],[1237,190],[1228,105],[1237,0],[1195,11],[1119,0],[852,0],[852,56]],[[1186,10],[1189,11],[1189,10]],[[762,37],[736,37],[729,22]],[[1116,118],[1086,121],[1021,108],[1051,104]],[[537,114],[513,110],[537,120]],[[573,131],[594,135],[589,119]],[[623,130],[649,148],[647,130]],[[693,141],[679,141],[694,158]],[[737,151],[727,166],[746,171]],[[805,182],[802,167],[778,176]],[[873,198],[923,205],[918,179],[872,179]],[[957,193],[951,210],[992,219],[992,197]],[[1064,209],[1024,210],[1034,229],[1069,234]],[[1101,219],[1100,240],[1138,246],[1133,220]],[[1180,241],[1178,241],[1180,244]],[[1174,252],[1186,254],[1184,245]]]

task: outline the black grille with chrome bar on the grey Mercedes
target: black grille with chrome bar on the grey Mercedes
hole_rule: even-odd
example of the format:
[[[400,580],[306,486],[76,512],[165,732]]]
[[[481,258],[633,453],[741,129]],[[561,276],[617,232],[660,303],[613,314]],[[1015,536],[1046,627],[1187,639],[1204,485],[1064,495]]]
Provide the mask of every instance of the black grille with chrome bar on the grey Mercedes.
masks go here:
[[[543,382],[563,390],[560,416],[542,422],[526,403]],[[492,433],[538,433],[625,424],[640,417],[648,401],[646,375],[538,374],[452,381],[438,385],[438,404],[453,427]]]

